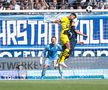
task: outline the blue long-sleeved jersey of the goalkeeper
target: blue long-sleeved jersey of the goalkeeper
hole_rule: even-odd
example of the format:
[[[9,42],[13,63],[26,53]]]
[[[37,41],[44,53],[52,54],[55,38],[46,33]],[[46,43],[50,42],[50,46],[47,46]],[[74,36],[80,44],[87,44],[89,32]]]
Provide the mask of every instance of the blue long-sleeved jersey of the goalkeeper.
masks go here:
[[[49,58],[50,60],[56,60],[58,58],[58,51],[61,51],[62,47],[59,44],[49,44],[45,47],[42,56]]]

